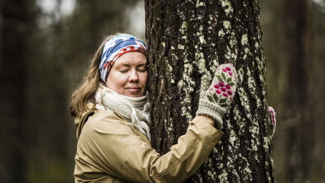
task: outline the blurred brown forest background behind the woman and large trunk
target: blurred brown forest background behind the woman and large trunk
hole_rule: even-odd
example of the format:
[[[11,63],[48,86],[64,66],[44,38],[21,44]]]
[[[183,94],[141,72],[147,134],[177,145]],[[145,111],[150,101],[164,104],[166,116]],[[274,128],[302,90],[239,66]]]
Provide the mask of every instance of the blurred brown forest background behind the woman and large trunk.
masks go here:
[[[325,182],[325,1],[261,0],[279,183]],[[0,2],[0,175],[73,182],[76,128],[68,99],[104,35],[145,40],[143,0]]]

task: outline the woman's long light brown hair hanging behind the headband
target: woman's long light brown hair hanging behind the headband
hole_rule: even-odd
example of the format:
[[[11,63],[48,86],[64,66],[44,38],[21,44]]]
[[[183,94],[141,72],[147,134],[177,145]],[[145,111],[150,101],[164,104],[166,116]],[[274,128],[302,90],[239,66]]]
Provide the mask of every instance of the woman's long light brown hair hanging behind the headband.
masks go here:
[[[93,104],[96,104],[94,94],[99,86],[99,83],[102,82],[99,74],[99,64],[102,57],[102,50],[105,43],[112,37],[120,35],[117,33],[115,35],[106,36],[103,38],[103,41],[95,54],[91,57],[88,67],[83,74],[82,81],[73,91],[70,98],[70,113],[72,116],[78,116],[82,114],[85,110],[88,109],[87,102],[90,100]]]

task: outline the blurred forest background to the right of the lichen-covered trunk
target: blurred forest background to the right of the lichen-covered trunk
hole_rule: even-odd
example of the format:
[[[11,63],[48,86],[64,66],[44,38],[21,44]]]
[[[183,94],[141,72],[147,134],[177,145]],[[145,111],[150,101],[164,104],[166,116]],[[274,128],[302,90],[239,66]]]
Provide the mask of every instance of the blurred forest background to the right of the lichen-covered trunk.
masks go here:
[[[277,182],[325,182],[325,1],[261,1]],[[304,97],[304,98],[301,98]]]

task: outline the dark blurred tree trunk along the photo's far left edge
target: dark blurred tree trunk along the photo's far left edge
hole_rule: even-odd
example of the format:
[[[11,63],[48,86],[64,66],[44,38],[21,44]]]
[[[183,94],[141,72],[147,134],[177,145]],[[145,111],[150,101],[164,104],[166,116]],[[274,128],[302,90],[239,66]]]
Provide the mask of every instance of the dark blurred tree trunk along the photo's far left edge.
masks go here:
[[[33,0],[0,2],[0,177],[4,183],[22,183],[25,177],[25,77],[28,37],[36,17],[32,4]]]

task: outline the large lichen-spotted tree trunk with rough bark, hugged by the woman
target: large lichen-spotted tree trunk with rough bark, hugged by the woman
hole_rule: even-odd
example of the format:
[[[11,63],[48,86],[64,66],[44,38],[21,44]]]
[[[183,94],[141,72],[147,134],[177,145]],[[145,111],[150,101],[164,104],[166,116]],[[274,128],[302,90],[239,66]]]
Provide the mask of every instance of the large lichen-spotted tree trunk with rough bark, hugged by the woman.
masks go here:
[[[266,62],[258,0],[145,0],[152,144],[166,153],[185,133],[217,66],[239,74],[224,136],[187,182],[274,182]]]

